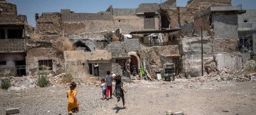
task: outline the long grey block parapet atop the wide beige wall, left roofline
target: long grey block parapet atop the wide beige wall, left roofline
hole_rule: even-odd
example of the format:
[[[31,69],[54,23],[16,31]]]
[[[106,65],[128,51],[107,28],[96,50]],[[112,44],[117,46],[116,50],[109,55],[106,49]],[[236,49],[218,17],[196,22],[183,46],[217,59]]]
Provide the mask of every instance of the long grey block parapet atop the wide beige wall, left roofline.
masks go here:
[[[98,13],[75,13],[70,9],[61,9],[62,20],[113,20],[113,14],[109,11]]]

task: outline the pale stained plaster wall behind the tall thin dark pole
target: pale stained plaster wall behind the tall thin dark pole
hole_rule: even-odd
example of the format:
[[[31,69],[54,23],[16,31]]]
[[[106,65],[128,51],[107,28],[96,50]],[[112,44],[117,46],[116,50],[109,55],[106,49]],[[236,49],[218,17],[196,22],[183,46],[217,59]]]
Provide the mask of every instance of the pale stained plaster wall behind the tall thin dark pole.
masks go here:
[[[207,74],[205,63],[213,61],[212,57],[212,39],[204,37],[203,44],[203,61],[204,75]],[[197,52],[195,52],[192,48]],[[199,55],[198,55],[199,54]],[[201,76],[201,37],[182,38],[180,39],[180,55],[181,55],[181,77],[191,78]]]

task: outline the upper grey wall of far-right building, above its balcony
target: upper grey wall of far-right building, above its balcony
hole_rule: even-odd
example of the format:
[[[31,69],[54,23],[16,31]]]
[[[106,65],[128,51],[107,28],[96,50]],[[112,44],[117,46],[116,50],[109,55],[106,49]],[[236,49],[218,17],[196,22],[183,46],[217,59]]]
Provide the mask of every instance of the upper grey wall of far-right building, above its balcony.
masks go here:
[[[253,28],[256,28],[256,14],[255,14],[256,10],[246,10],[246,13],[244,14],[239,14],[238,15],[238,24],[239,27],[238,31],[247,31],[247,30],[251,30]],[[244,23],[244,20],[248,20],[248,23]],[[249,24],[252,24],[252,28],[248,28],[250,27]]]

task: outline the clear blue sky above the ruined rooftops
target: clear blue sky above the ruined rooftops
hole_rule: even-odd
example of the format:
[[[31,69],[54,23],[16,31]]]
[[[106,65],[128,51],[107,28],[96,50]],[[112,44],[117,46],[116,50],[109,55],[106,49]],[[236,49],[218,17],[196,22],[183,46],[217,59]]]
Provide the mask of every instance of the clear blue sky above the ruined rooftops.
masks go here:
[[[27,16],[30,25],[35,26],[35,13],[61,12],[70,9],[77,13],[97,13],[113,8],[137,8],[140,3],[161,3],[161,0],[6,0],[17,5],[18,14]],[[162,0],[162,3],[167,0]],[[176,0],[177,6],[185,7],[188,0]],[[243,9],[256,9],[256,0],[232,0],[232,6],[242,4]]]

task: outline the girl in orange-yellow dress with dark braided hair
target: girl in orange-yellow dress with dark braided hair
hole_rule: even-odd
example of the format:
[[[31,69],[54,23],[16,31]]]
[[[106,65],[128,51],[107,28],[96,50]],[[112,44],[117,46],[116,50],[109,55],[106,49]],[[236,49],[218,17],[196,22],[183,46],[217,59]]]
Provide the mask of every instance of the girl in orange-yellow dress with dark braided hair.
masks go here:
[[[73,113],[79,112],[79,102],[76,98],[76,83],[70,84],[70,90],[67,90],[67,112],[68,115],[74,115]]]

